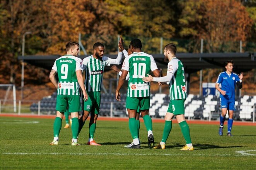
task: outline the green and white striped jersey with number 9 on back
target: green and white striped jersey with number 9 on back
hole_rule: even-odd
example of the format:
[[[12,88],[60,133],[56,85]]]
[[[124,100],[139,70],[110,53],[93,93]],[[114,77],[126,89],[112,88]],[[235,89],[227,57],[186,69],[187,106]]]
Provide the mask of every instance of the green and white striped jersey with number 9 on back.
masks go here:
[[[58,73],[58,95],[79,95],[76,71],[83,71],[80,58],[73,55],[64,55],[55,60],[52,69]]]

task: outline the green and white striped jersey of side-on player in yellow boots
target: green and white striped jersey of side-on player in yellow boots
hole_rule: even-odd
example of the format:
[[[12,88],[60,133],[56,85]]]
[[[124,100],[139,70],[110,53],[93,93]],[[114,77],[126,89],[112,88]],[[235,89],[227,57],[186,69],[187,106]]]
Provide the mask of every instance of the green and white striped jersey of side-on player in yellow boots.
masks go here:
[[[171,100],[187,98],[184,67],[178,58],[172,58],[168,63],[167,73],[173,73],[169,84]]]

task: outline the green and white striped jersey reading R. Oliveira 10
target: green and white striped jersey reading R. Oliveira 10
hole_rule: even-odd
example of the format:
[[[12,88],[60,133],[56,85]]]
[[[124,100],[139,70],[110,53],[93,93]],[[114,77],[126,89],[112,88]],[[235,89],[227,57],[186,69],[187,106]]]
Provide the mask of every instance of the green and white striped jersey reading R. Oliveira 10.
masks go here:
[[[122,70],[127,70],[130,74],[128,82],[128,97],[148,97],[150,96],[150,83],[143,82],[142,78],[146,77],[151,71],[157,69],[152,55],[144,52],[132,53],[125,58]]]

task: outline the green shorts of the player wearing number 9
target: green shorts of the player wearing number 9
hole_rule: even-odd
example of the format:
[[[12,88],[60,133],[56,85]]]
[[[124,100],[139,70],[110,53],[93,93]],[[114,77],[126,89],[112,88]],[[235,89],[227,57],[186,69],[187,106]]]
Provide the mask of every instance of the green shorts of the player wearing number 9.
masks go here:
[[[80,112],[82,110],[79,95],[57,95],[56,111]]]

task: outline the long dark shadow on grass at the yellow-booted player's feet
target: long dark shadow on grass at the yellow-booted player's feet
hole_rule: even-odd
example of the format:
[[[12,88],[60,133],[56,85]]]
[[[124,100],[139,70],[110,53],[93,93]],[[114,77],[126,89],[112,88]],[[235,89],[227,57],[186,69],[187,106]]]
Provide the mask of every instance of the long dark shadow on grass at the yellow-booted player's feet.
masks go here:
[[[166,145],[166,148],[182,148],[184,145],[180,143],[170,143],[171,145]],[[218,145],[210,145],[210,144],[200,144],[200,143],[193,143],[193,147],[196,150],[203,150],[203,149],[215,149],[215,148],[241,148],[242,146],[218,146]]]

